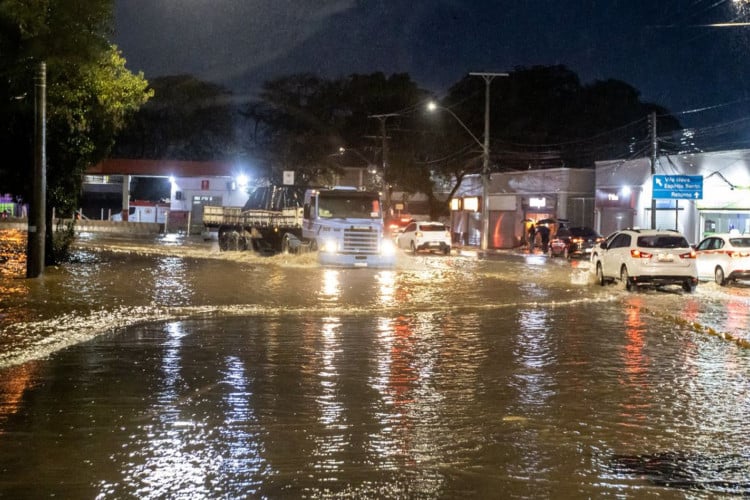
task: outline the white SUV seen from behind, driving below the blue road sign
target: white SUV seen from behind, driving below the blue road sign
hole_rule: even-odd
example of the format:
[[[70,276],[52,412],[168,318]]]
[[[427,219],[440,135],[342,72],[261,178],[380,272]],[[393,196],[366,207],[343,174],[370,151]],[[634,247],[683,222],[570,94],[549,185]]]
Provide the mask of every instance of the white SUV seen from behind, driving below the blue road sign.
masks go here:
[[[623,229],[611,234],[591,253],[600,285],[619,280],[626,290],[641,285],[698,285],[695,250],[677,231]]]

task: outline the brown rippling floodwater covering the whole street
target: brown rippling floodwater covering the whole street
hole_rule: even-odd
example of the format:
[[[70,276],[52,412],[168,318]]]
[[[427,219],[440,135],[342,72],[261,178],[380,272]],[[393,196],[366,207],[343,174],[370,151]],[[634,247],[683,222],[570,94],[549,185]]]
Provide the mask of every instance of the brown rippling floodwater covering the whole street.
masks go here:
[[[28,280],[0,236],[0,497],[750,495],[747,284],[91,235]]]

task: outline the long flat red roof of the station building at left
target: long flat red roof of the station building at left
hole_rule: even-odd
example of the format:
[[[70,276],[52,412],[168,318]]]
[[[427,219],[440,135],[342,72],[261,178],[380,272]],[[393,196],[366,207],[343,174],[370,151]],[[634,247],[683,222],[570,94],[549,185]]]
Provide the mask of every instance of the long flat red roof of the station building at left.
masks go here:
[[[222,161],[127,160],[110,158],[86,169],[88,175],[142,175],[158,177],[232,177],[234,163]]]

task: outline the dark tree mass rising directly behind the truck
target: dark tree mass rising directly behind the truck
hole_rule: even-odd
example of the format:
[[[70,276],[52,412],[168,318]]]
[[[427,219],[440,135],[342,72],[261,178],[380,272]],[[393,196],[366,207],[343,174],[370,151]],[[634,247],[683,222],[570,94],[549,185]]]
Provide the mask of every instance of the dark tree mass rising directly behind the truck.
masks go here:
[[[361,151],[369,163],[382,164],[380,124],[373,115],[408,110],[388,121],[393,154],[385,173],[389,184],[402,187],[414,177],[411,110],[426,96],[407,74],[352,74],[325,80],[297,74],[266,82],[260,103],[251,103],[243,116],[252,123],[253,139],[265,157],[266,175],[278,181],[282,170],[294,170],[302,182],[331,178],[332,161],[340,147]]]

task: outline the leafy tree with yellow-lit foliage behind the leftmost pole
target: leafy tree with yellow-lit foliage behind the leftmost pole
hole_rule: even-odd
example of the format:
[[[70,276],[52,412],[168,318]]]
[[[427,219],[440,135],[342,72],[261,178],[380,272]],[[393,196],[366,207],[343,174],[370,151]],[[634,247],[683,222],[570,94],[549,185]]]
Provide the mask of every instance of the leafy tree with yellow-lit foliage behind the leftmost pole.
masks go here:
[[[0,2],[0,186],[31,198],[33,78],[44,61],[48,221],[53,208],[71,214],[86,167],[106,156],[128,115],[150,97],[143,74],[125,69],[108,43],[111,19],[112,0]]]

